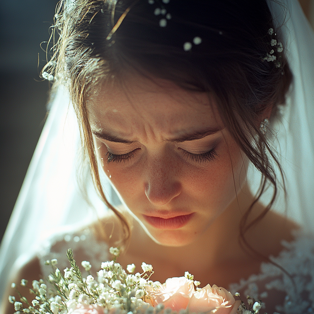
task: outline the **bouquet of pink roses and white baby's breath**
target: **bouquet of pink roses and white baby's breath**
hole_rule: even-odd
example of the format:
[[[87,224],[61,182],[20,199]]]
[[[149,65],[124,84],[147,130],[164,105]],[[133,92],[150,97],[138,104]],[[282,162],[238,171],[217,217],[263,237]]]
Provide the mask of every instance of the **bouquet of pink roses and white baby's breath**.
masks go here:
[[[29,302],[12,284],[20,297],[16,301],[9,296],[15,314],[257,314],[262,307],[261,300],[250,296],[246,306],[239,293],[231,295],[216,285],[199,288],[200,282],[188,272],[184,277],[169,278],[164,284],[150,280],[153,267],[146,263],[142,263],[142,273],[134,273],[134,264],[127,265],[127,274],[116,263],[119,248],[111,247],[109,251],[113,259],[101,263],[97,280],[90,274],[91,265],[87,261],[82,266],[89,275],[82,277],[71,249],[67,252],[71,267],[64,269],[64,274],[56,267],[56,259],[46,261],[52,272],[46,282],[42,279],[32,282],[30,293],[35,295],[34,300]],[[27,284],[25,279],[21,280],[22,286]]]

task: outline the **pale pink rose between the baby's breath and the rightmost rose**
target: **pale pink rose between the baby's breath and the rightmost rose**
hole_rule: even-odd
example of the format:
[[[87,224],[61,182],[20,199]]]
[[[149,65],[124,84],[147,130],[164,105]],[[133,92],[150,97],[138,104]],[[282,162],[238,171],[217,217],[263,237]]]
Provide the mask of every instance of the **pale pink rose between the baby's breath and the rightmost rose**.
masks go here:
[[[173,311],[186,309],[193,295],[193,281],[185,277],[173,277],[159,285],[159,291],[148,291],[154,306],[162,303]]]

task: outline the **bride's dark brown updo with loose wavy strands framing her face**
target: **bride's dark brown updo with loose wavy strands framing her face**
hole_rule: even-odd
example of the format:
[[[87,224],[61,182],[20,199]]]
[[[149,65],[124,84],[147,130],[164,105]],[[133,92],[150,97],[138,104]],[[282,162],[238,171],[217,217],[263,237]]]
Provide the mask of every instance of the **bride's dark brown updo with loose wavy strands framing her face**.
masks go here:
[[[276,38],[270,29],[275,27],[265,0],[61,1],[54,27],[60,37],[42,73],[68,84],[95,185],[121,220],[124,239],[129,237],[127,221],[101,188],[88,97],[102,82],[122,78],[126,72],[214,95],[225,126],[263,175],[254,203],[267,182],[274,187],[273,198],[258,219],[246,224],[254,203],[242,218],[240,240],[248,245],[244,233],[267,213],[276,197],[273,164],[280,169],[259,129],[261,114],[284,103],[291,81],[282,49],[272,46]],[[270,54],[276,62],[266,58]]]

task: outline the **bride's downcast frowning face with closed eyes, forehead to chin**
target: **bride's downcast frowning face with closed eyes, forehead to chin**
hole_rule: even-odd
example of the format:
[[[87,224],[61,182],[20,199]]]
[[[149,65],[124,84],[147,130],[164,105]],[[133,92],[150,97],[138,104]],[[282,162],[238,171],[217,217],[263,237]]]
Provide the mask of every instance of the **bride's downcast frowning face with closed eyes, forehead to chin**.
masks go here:
[[[162,245],[195,241],[244,182],[243,154],[205,93],[134,77],[103,86],[88,109],[106,175]]]

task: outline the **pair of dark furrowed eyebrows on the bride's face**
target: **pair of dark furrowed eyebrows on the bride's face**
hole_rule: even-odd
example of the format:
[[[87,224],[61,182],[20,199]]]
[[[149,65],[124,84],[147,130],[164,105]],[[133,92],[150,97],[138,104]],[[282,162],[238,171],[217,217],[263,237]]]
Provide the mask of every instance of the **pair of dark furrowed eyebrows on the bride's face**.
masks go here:
[[[171,139],[166,139],[166,141],[168,142],[176,142],[176,143],[181,143],[181,142],[185,142],[185,141],[193,141],[196,139],[201,139],[204,138],[208,135],[217,133],[219,131],[221,131],[222,128],[215,128],[215,129],[206,129],[204,131],[197,131],[197,132],[192,132],[192,133],[186,133],[181,135],[178,138],[171,138]],[[138,141],[130,141],[127,140],[125,138],[121,138],[118,136],[114,136],[108,133],[105,133],[103,131],[92,131],[92,133],[95,135],[95,137],[100,138],[100,139],[104,139],[106,141],[109,142],[115,142],[115,143],[125,143],[125,144],[132,144]]]

